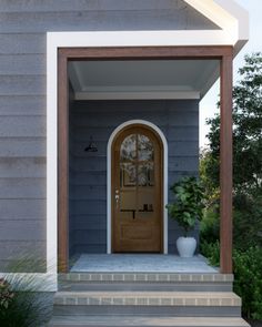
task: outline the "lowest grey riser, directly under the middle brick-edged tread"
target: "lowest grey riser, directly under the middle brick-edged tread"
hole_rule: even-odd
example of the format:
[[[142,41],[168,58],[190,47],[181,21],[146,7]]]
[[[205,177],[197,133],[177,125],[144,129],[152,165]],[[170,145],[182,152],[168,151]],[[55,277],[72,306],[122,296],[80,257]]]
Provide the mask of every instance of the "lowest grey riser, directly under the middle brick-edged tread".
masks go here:
[[[118,305],[56,305],[53,314],[57,316],[74,315],[154,315],[172,317],[240,317],[241,307],[201,307],[201,306],[118,306]]]

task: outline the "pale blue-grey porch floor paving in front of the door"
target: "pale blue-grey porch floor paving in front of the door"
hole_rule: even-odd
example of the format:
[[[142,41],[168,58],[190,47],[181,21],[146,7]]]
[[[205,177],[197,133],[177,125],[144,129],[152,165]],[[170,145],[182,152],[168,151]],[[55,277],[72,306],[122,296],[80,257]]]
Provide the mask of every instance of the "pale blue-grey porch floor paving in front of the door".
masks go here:
[[[196,255],[181,258],[163,254],[82,254],[71,273],[219,273]]]

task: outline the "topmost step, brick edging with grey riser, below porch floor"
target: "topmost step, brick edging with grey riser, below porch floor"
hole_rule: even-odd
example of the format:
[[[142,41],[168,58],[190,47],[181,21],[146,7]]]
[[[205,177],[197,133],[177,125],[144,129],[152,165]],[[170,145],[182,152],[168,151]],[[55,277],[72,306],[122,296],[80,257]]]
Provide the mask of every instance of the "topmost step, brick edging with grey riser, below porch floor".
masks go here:
[[[233,275],[172,273],[71,273],[59,275],[60,290],[232,292]]]

